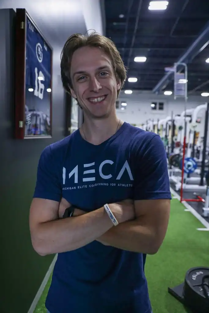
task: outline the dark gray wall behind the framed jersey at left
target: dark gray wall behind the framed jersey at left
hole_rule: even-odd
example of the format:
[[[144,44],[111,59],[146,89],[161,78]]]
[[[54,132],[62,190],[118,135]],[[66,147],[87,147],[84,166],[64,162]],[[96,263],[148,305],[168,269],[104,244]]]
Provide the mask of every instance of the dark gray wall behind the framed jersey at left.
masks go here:
[[[53,138],[13,139],[14,22],[13,9],[0,10],[0,203],[1,313],[26,313],[53,256],[32,248],[29,207],[36,170],[45,146],[64,136],[64,92],[58,68],[53,73]]]

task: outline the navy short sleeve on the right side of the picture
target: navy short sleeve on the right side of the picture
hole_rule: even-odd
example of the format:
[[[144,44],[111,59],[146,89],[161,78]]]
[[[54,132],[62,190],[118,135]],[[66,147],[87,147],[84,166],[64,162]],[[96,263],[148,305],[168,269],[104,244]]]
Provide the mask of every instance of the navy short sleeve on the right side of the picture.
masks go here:
[[[171,199],[167,156],[159,135],[143,146],[136,157],[134,200]]]

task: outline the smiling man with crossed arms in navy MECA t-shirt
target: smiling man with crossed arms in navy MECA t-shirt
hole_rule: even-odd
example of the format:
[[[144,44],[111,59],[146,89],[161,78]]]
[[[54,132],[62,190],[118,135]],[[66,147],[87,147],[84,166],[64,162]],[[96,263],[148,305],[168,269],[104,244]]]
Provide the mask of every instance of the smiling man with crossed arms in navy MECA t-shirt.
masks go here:
[[[58,253],[46,308],[151,313],[145,258],[159,250],[170,214],[164,145],[158,135],[118,119],[126,70],[108,38],[72,35],[61,78],[84,123],[39,160],[32,244],[40,255]]]

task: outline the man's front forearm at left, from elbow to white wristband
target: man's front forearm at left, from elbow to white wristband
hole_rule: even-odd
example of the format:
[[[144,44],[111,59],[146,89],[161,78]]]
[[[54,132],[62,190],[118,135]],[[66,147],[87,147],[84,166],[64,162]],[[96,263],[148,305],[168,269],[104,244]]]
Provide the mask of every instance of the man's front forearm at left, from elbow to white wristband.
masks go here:
[[[41,223],[34,236],[34,249],[40,255],[75,250],[94,241],[112,227],[104,208],[81,216]]]

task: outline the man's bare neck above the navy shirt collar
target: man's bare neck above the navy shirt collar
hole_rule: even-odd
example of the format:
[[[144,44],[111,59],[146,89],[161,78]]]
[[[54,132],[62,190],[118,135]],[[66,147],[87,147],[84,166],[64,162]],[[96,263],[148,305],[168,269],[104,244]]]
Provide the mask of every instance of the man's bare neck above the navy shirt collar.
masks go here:
[[[102,120],[92,120],[87,117],[80,129],[81,136],[93,145],[99,145],[112,137],[123,122],[117,116],[109,116]]]

